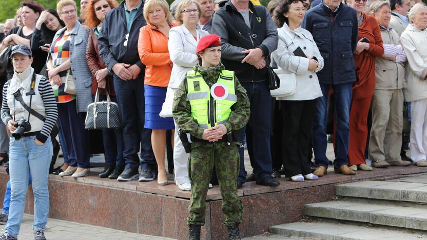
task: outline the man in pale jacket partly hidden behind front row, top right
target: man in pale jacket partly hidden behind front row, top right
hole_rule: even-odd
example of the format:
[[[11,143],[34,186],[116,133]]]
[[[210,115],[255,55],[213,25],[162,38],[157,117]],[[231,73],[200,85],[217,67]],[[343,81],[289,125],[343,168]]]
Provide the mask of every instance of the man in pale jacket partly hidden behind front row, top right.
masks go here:
[[[409,23],[406,14],[411,9],[411,0],[391,0],[390,7],[392,8],[390,27],[400,36]]]

